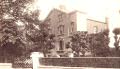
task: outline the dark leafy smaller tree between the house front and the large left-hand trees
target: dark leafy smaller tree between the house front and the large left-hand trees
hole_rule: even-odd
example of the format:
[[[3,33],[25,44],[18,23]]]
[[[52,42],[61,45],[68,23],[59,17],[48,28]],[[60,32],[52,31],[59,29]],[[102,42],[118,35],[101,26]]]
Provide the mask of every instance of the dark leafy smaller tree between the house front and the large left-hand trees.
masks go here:
[[[46,56],[46,53],[54,47],[55,35],[49,33],[49,25],[46,23],[40,23],[38,27],[39,29],[31,28],[31,34],[26,33],[26,37],[33,43],[32,51],[43,52]]]

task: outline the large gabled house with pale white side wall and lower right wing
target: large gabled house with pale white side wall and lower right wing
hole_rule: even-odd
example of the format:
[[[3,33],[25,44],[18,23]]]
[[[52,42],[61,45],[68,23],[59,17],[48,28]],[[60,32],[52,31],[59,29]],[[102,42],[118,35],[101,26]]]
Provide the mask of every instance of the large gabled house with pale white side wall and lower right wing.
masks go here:
[[[86,31],[89,34],[98,33],[108,28],[107,22],[93,20],[80,11],[66,12],[65,9],[53,9],[44,23],[50,26],[49,32],[55,34],[56,50],[65,50],[65,44],[70,41],[69,36],[77,31]]]

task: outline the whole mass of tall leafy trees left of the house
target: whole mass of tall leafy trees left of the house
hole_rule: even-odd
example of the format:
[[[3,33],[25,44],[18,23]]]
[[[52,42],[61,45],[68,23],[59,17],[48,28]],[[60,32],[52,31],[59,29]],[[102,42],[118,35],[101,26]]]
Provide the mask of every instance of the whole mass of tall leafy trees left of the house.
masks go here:
[[[32,2],[34,0],[2,0],[0,3],[0,45],[5,53],[14,57],[37,49],[46,52],[47,45],[54,44],[48,24],[39,20],[40,11],[30,9]]]

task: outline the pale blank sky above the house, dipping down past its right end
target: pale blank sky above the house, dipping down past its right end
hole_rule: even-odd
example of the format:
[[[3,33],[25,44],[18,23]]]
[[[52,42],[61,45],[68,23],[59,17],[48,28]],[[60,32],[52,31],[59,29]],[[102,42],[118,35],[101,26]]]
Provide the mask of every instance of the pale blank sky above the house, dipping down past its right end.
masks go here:
[[[99,21],[104,21],[107,17],[110,37],[114,36],[112,30],[120,27],[120,0],[35,0],[34,5],[41,10],[41,19],[44,19],[53,8],[59,5],[65,5],[69,11],[76,9],[86,12],[89,17]],[[111,38],[111,42],[113,40]]]

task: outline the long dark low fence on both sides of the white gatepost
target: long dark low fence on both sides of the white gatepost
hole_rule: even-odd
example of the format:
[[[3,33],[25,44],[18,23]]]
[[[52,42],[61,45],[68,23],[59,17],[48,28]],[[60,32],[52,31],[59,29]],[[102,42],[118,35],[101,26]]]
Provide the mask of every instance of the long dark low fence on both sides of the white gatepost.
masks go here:
[[[45,66],[120,68],[119,57],[41,58],[40,63]],[[32,62],[16,61],[13,67],[31,68]]]

